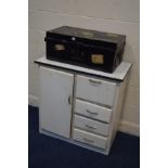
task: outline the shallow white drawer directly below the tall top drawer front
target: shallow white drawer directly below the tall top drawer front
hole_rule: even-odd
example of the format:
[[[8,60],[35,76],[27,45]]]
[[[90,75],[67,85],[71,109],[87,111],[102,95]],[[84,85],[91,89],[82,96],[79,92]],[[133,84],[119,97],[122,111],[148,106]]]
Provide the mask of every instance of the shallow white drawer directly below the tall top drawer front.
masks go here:
[[[111,121],[112,109],[92,103],[76,100],[74,111],[76,114],[80,114],[89,118],[102,120],[105,122]]]

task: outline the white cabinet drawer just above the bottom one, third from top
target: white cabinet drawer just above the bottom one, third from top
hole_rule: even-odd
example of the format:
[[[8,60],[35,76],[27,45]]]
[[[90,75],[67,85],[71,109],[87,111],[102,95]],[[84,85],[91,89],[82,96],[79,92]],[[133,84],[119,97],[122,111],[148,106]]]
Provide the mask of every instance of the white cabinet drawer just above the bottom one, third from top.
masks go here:
[[[74,126],[102,135],[108,134],[109,125],[75,115]]]

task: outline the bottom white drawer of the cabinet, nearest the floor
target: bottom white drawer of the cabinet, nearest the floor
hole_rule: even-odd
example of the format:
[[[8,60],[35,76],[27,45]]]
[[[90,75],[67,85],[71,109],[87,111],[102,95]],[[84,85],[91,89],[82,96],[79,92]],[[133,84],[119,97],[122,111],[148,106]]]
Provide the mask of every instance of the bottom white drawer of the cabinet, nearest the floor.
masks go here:
[[[73,139],[100,148],[106,148],[106,143],[107,143],[106,138],[96,135],[93,133],[89,133],[76,128],[74,129]]]

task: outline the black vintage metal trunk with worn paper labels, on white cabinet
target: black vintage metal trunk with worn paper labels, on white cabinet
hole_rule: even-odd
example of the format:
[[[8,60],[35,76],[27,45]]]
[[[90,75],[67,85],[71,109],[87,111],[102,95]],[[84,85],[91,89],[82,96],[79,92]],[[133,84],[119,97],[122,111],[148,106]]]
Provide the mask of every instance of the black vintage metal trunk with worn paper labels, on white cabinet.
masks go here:
[[[62,26],[47,31],[47,59],[113,73],[122,61],[126,36]]]

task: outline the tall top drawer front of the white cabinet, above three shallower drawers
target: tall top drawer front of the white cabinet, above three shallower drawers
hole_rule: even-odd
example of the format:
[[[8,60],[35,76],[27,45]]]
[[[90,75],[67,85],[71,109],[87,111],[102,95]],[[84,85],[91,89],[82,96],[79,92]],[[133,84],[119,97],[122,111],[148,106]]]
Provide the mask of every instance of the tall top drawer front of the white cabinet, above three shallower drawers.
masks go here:
[[[83,76],[76,77],[76,98],[113,106],[116,83]]]

